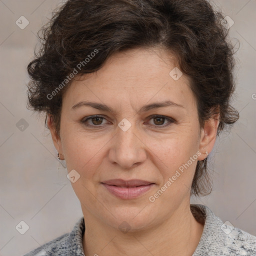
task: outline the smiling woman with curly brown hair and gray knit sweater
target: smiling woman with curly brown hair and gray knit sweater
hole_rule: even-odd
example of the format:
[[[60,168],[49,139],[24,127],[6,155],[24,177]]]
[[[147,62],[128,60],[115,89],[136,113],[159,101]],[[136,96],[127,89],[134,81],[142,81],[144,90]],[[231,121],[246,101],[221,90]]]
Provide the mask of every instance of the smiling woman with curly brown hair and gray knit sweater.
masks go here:
[[[206,0],[68,0],[28,65],[83,217],[28,255],[256,255],[190,196],[238,119],[232,45]]]

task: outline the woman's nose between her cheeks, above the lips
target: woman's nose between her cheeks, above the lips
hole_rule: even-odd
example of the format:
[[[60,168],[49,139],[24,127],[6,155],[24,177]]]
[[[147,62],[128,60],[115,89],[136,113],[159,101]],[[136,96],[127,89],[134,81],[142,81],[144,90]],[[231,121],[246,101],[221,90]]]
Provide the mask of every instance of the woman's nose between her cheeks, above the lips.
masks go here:
[[[108,158],[111,163],[129,169],[141,164],[146,159],[146,145],[135,125],[126,131],[117,126],[117,131],[112,138]]]

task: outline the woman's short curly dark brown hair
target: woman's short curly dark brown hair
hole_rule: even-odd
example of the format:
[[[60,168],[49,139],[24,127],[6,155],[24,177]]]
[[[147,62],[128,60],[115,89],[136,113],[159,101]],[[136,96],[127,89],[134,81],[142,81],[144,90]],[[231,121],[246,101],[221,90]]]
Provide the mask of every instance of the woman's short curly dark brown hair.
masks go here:
[[[219,134],[239,118],[230,105],[235,61],[222,19],[207,0],[68,0],[40,30],[42,47],[27,66],[28,106],[50,115],[59,134],[62,95],[78,63],[79,74],[90,73],[115,52],[156,46],[191,78],[200,126],[219,111]],[[191,195],[211,192],[206,163],[197,161]]]

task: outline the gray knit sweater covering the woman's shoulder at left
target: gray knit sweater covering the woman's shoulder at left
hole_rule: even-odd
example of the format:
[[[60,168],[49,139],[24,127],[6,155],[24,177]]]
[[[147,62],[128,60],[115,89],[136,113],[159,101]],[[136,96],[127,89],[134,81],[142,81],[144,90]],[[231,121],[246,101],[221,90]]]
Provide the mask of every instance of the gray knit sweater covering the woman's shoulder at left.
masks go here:
[[[61,236],[58,236],[57,238],[31,250],[23,256],[84,256],[82,249],[82,235],[84,228],[84,219],[81,217],[75,223],[71,232],[62,234]]]

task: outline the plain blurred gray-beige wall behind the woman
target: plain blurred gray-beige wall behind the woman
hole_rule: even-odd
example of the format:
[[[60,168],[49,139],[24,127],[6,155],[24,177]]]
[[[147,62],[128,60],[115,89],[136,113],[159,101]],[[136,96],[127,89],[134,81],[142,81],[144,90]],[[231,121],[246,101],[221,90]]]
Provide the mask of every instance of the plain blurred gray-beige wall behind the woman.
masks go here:
[[[224,222],[256,235],[256,1],[211,2],[234,20],[230,37],[240,41],[234,97],[240,119],[230,133],[221,135],[209,156],[212,193],[191,198],[191,203],[206,204]],[[26,65],[36,33],[60,3],[0,0],[0,255],[22,255],[69,232],[82,216],[43,117],[26,109]],[[15,24],[21,15],[29,20],[24,29]],[[23,131],[16,126],[21,118],[28,123]],[[15,229],[21,220],[29,225],[23,235]]]

